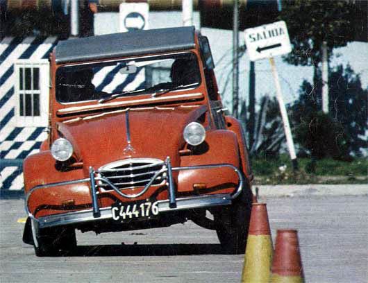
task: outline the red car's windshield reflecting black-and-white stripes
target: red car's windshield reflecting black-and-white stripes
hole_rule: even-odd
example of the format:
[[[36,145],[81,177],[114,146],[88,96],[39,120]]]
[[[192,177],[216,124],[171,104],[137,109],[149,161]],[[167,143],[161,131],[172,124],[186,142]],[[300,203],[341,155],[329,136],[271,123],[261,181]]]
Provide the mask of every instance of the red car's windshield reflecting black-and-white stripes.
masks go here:
[[[61,103],[133,96],[201,83],[194,53],[152,56],[88,65],[60,67],[56,99]]]

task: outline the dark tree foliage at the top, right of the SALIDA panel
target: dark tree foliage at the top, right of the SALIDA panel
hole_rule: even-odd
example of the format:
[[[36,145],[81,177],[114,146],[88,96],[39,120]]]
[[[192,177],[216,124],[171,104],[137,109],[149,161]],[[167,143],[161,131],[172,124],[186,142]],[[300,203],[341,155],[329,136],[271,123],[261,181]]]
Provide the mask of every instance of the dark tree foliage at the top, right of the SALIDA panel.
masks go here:
[[[353,1],[287,0],[279,19],[285,20],[294,46],[285,60],[294,65],[321,62],[321,46],[327,42],[328,54],[335,47],[355,40],[357,17],[367,22]]]

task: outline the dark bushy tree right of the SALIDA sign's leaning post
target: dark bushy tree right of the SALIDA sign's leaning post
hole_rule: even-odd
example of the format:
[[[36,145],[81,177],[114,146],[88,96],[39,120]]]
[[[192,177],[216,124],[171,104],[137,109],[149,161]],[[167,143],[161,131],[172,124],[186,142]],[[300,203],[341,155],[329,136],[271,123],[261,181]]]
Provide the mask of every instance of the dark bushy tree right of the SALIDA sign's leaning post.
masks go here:
[[[320,74],[317,74],[320,76]],[[334,157],[349,160],[367,148],[368,89],[362,89],[360,76],[348,65],[336,67],[329,78],[330,117],[318,112],[321,85],[313,87],[304,80],[299,99],[292,105],[296,141],[313,158]]]

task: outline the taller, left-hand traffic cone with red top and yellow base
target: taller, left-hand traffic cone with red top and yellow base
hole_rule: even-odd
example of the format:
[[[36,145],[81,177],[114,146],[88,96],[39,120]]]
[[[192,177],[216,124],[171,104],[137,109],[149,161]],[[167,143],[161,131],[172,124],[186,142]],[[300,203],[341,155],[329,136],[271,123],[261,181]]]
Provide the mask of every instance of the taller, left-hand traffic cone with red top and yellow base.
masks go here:
[[[273,252],[266,204],[253,203],[242,282],[268,282]]]

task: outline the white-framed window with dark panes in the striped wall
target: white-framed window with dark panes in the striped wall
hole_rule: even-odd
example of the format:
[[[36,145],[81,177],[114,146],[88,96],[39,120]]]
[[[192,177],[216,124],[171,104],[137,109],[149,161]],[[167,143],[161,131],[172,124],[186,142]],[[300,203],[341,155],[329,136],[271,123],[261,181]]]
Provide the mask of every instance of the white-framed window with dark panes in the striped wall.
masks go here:
[[[48,60],[15,63],[17,126],[47,126],[49,108]]]

